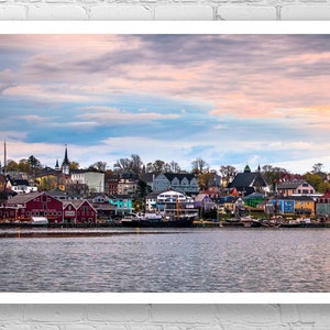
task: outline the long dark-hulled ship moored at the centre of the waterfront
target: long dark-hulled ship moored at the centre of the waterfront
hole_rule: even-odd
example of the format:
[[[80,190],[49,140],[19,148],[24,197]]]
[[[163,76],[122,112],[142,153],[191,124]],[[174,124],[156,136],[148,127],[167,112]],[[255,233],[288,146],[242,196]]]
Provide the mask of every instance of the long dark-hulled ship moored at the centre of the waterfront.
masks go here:
[[[131,228],[189,228],[193,227],[195,218],[196,215],[174,217],[160,213],[130,215],[121,219],[121,226]]]

